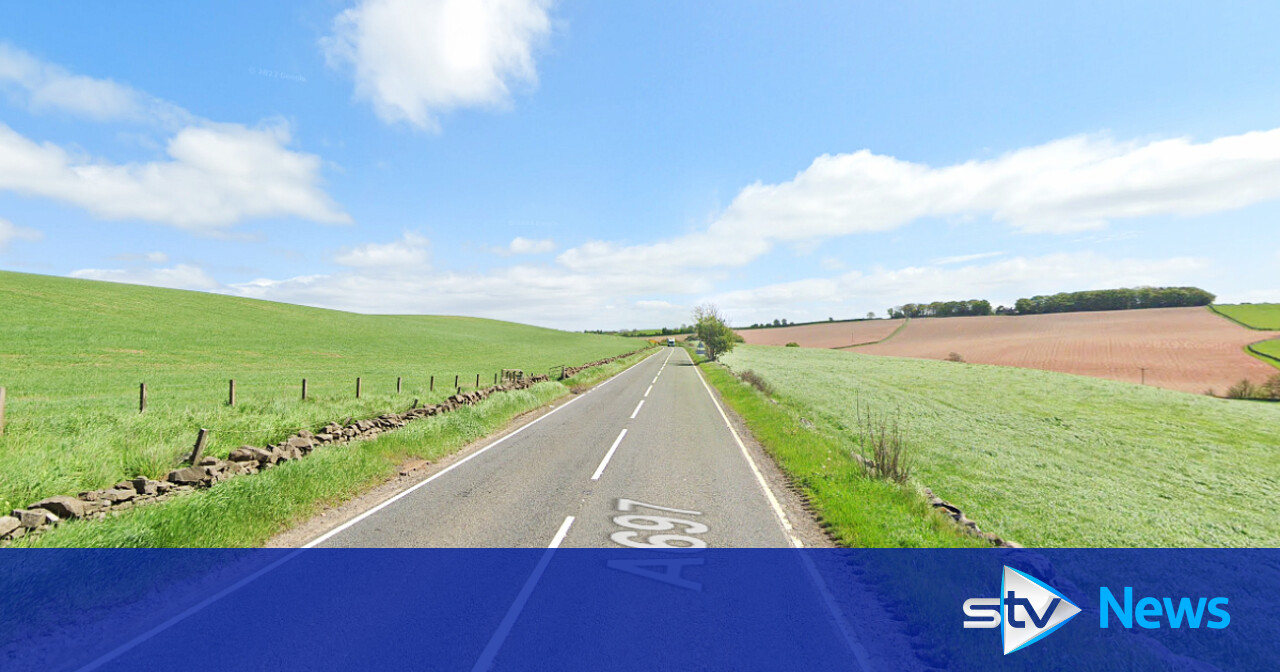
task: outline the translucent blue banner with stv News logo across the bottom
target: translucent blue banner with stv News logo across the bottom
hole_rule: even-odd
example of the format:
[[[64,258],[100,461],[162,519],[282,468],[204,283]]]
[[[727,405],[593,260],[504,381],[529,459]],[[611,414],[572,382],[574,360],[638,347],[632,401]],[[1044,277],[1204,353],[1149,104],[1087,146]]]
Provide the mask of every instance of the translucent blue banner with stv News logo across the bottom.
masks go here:
[[[6,671],[1280,664],[1277,550],[13,549],[0,589]]]

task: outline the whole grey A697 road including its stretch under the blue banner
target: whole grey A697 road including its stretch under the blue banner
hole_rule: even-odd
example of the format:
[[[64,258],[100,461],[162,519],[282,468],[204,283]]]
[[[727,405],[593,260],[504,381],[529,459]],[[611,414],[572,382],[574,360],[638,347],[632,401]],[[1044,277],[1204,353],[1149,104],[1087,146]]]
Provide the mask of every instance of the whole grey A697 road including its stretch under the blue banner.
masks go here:
[[[803,545],[759,466],[663,348],[301,549],[232,552],[14,667],[916,669],[883,628],[892,655],[868,654],[842,557],[727,550]],[[228,623],[253,635],[206,636]]]

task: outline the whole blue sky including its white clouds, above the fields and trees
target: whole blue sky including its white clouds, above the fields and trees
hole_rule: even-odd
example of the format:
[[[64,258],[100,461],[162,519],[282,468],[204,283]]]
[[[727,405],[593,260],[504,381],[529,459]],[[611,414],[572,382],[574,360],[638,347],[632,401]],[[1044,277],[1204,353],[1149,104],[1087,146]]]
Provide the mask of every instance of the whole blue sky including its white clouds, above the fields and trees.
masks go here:
[[[1272,4],[46,5],[5,270],[566,329],[1280,301]]]

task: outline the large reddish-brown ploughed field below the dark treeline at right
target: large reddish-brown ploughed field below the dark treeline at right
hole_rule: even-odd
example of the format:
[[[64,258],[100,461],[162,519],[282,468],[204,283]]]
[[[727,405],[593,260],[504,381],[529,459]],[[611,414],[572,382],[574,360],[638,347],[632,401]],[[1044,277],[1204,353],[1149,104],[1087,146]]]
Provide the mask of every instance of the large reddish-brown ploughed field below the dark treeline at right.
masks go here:
[[[849,352],[931,360],[956,352],[966,362],[1129,383],[1142,381],[1146,367],[1148,385],[1222,394],[1242,378],[1262,383],[1277,372],[1244,352],[1248,343],[1277,337],[1280,332],[1245,329],[1203,307],[1149,308],[915,319],[890,340]],[[808,343],[792,340],[823,347],[827,334],[818,333]]]

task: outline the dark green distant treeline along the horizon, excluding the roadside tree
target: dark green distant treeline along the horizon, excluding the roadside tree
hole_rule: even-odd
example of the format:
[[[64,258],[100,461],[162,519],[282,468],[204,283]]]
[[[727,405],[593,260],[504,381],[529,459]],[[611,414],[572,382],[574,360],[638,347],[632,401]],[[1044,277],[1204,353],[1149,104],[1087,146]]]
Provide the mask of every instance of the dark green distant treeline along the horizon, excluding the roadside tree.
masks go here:
[[[984,298],[972,298],[968,301],[934,301],[932,303],[904,303],[888,308],[890,319],[904,317],[972,317],[982,315],[1042,315],[1046,312],[1092,312],[1101,310],[1138,310],[1138,308],[1181,308],[1194,306],[1208,306],[1217,297],[1198,287],[1132,287],[1121,289],[1088,289],[1084,292],[1061,292],[1057,294],[1042,294],[1030,298],[1019,298],[1012,307],[997,306],[992,308],[991,302]],[[854,320],[836,320],[827,317],[827,321],[861,321],[864,317]],[[867,320],[874,319],[874,314],[867,314]],[[767,329],[769,326],[799,326],[819,323],[787,323],[787,320],[773,320],[773,324],[753,324],[744,329]],[[594,330],[595,334],[617,334],[631,337],[654,337],[669,334],[685,334],[692,332],[692,326],[682,325],[676,329],[631,329],[622,332]]]

